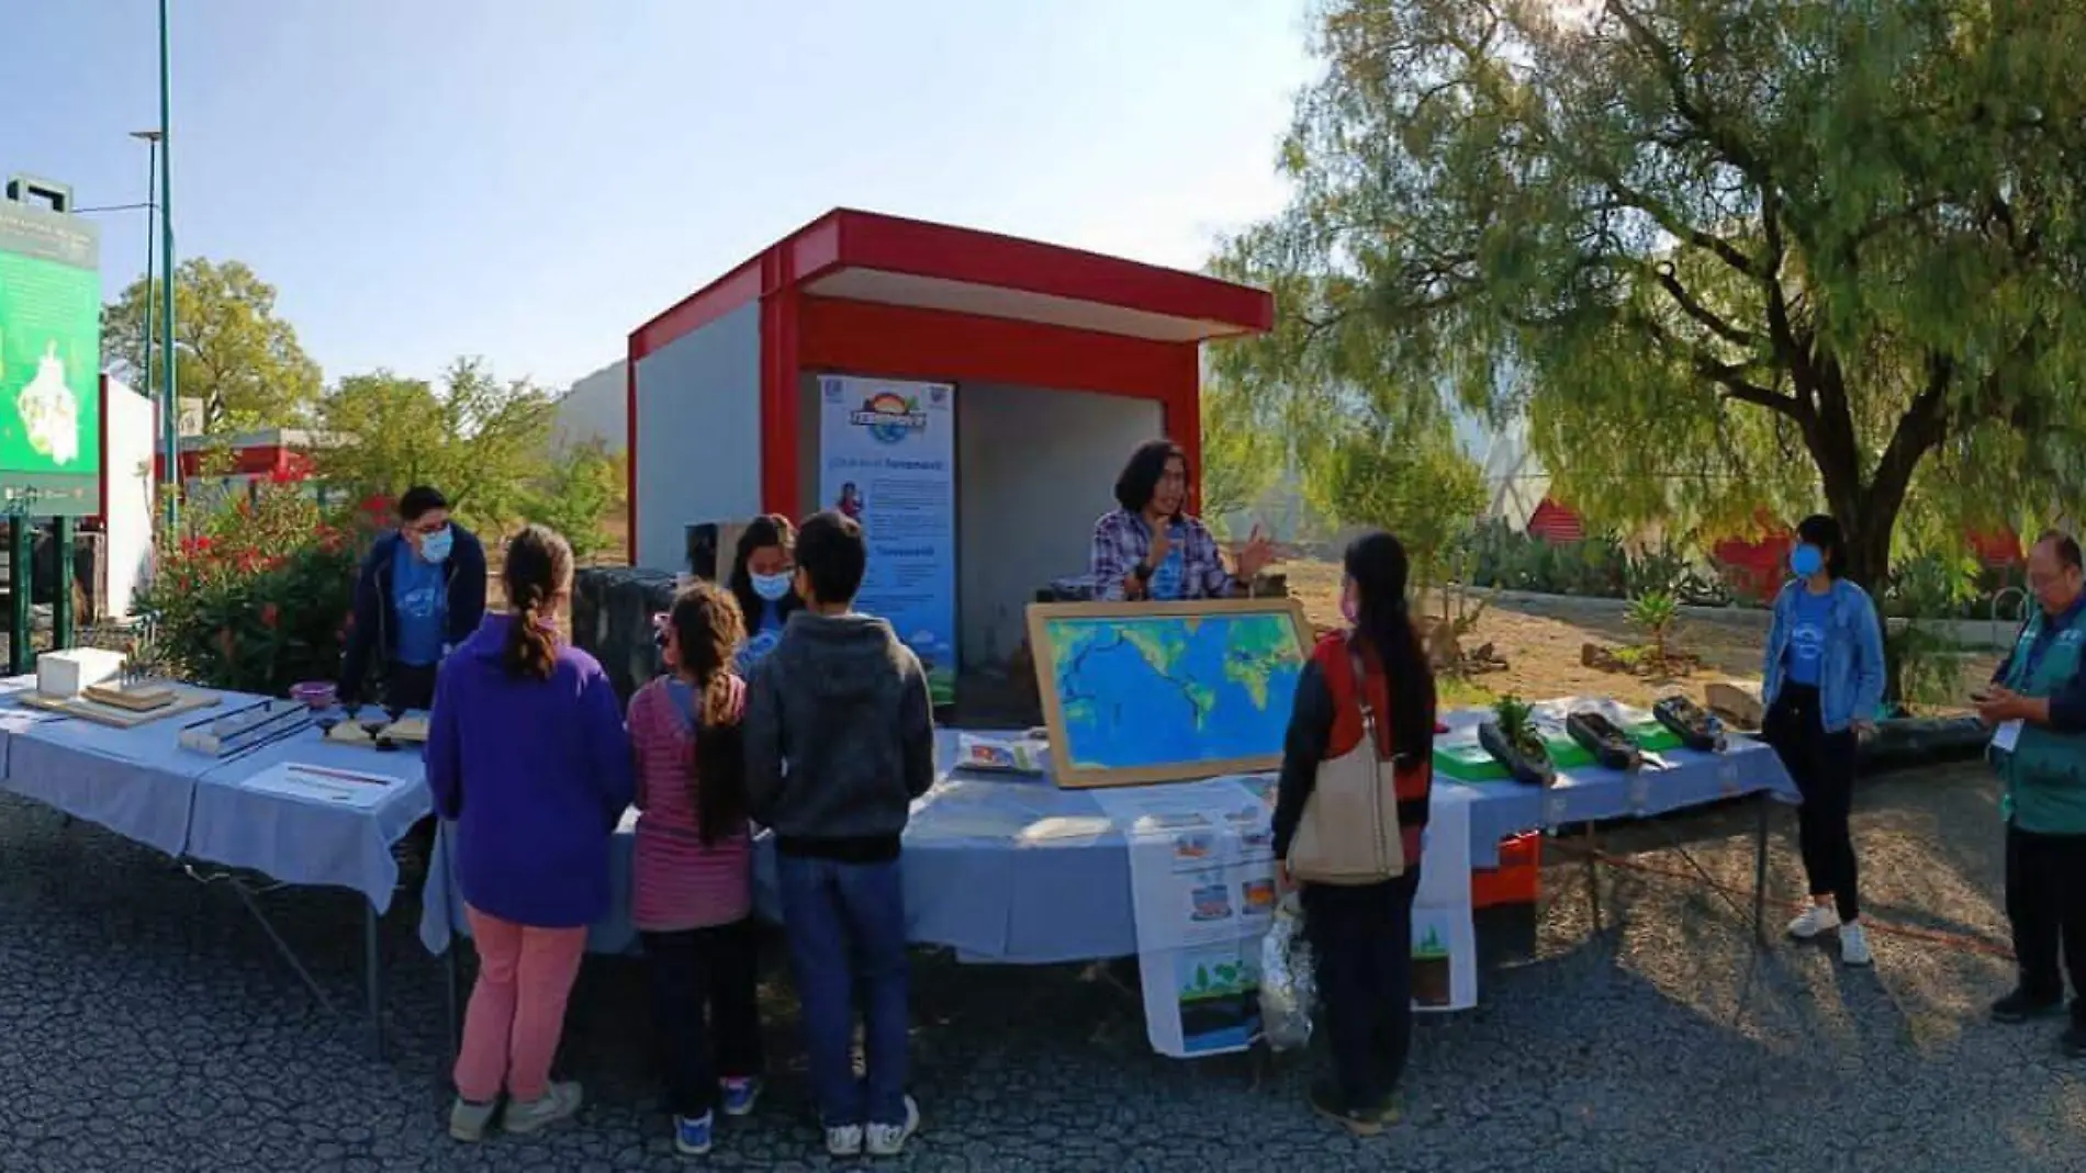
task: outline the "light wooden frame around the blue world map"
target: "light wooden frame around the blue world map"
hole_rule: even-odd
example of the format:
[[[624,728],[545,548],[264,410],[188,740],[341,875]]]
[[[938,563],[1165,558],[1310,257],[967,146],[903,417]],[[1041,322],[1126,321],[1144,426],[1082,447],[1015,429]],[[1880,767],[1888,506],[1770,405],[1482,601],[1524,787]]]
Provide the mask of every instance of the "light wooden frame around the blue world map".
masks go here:
[[[1028,648],[1037,665],[1037,692],[1043,698],[1043,723],[1049,727],[1051,779],[1066,790],[1093,790],[1103,785],[1149,785],[1156,781],[1189,781],[1218,777],[1227,773],[1264,773],[1281,767],[1281,735],[1266,752],[1224,758],[1189,758],[1170,763],[1145,763],[1133,767],[1076,765],[1064,721],[1064,696],[1058,688],[1058,650],[1051,623],[1066,619],[1206,619],[1214,615],[1268,615],[1283,617],[1295,631],[1297,669],[1310,658],[1314,644],[1310,621],[1304,619],[1304,604],[1293,598],[1195,598],[1177,602],[1035,602],[1028,604]],[[1287,727],[1289,706],[1283,702],[1279,727]]]

